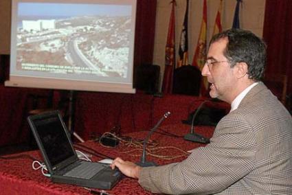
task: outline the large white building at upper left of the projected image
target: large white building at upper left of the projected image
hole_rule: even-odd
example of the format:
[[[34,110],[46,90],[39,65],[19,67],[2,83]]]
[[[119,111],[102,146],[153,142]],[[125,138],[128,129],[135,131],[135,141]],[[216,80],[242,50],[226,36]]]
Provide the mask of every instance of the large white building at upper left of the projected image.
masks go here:
[[[43,31],[56,28],[55,20],[37,20],[37,21],[22,21],[23,30],[27,32],[31,31]]]

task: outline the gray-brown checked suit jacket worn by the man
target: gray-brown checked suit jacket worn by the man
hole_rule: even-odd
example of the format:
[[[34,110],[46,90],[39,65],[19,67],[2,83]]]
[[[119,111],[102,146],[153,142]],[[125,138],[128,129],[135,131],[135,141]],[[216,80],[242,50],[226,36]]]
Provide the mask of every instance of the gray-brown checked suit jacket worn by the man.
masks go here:
[[[164,194],[292,194],[292,119],[261,82],[188,159],[143,168],[139,183]]]

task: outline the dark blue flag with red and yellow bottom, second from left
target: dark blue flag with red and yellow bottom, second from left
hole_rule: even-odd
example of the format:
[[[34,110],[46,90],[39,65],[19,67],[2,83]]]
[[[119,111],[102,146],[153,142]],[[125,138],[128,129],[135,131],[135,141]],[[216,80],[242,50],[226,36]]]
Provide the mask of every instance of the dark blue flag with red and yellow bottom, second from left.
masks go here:
[[[188,65],[188,1],[189,0],[187,0],[185,18],[183,19],[181,39],[179,41],[179,60],[177,60],[177,67]]]

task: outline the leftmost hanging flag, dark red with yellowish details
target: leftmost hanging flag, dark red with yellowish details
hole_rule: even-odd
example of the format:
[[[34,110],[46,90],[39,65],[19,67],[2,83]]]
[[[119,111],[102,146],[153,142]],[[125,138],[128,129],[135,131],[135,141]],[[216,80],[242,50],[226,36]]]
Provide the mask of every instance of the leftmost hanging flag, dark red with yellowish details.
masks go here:
[[[164,80],[162,82],[162,92],[172,93],[173,70],[175,69],[175,0],[172,0],[172,10],[168,25],[168,36],[166,41],[166,56],[164,68]]]

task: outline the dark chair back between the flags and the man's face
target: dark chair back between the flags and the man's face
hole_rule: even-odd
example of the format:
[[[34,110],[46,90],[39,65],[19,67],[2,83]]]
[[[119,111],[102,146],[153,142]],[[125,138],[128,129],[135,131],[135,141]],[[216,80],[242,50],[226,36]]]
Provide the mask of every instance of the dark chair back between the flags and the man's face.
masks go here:
[[[186,65],[175,69],[172,93],[199,95],[201,78],[201,71],[197,67]]]

